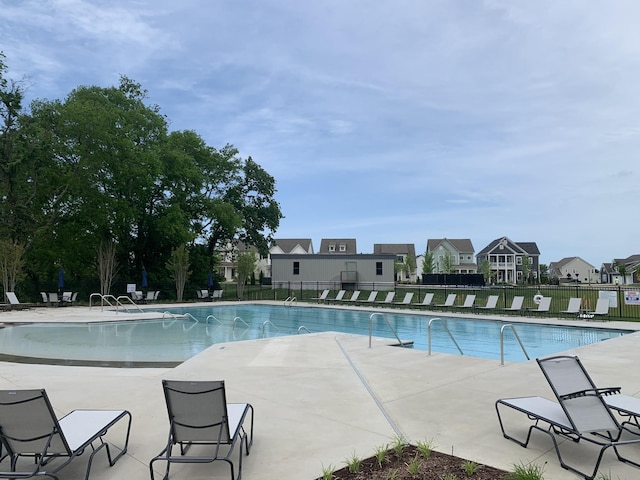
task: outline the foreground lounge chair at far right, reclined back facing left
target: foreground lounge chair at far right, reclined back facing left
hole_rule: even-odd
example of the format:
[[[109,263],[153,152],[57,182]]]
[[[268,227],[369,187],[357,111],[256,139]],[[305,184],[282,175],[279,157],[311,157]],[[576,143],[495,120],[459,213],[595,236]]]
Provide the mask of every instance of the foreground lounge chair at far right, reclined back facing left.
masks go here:
[[[640,438],[621,439],[626,429],[618,423],[605,401],[605,395],[616,393],[620,389],[596,388],[577,357],[555,356],[537,359],[537,362],[557,402],[543,397],[506,398],[496,401],[496,412],[503,436],[526,448],[534,430],[549,435],[560,465],[588,480],[595,478],[602,457],[610,447],[613,447],[620,461],[640,467],[640,463],[622,456],[619,449],[623,445],[640,443]],[[612,397],[615,396],[612,395]],[[506,432],[500,413],[501,407],[524,413],[529,420],[533,421],[524,440],[517,439]],[[584,441],[600,448],[591,473],[583,472],[565,462],[558,437],[568,438],[574,442]]]

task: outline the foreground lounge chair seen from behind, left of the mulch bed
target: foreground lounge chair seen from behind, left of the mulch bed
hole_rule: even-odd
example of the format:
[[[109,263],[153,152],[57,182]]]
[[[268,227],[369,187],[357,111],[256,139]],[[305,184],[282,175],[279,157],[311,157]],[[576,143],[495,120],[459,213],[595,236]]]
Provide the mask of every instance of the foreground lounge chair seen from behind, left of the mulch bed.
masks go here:
[[[249,403],[227,403],[224,381],[163,380],[162,388],[169,413],[167,445],[151,462],[149,471],[154,476],[154,464],[167,462],[163,479],[169,478],[172,463],[213,463],[221,460],[231,469],[231,479],[242,476],[242,443],[246,454],[253,443],[253,406]],[[251,413],[249,432],[244,422]],[[234,475],[231,454],[239,442],[238,476]],[[173,447],[179,445],[179,455]],[[213,447],[210,455],[200,450],[199,455],[187,455],[192,445]],[[185,477],[187,478],[187,477]]]

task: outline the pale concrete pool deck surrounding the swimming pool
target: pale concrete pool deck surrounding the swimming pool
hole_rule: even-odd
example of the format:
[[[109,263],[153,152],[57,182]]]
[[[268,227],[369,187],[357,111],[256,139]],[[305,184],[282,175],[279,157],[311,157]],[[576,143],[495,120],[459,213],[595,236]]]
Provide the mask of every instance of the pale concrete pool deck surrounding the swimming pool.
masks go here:
[[[79,306],[0,313],[0,323],[110,319],[123,318],[122,314]],[[629,329],[634,324],[602,325]],[[636,374],[639,335],[567,353],[578,354],[600,386],[621,386],[623,393],[640,396]],[[254,444],[243,461],[247,480],[313,480],[321,476],[323,466],[340,468],[354,454],[371,456],[376,447],[391,443],[398,435],[412,443],[432,439],[436,450],[506,470],[519,463],[545,464],[545,480],[579,478],[560,467],[548,437],[534,434],[524,449],[500,432],[494,407],[498,398],[553,398],[535,361],[500,366],[496,360],[439,353],[428,356],[388,343],[388,339],[374,339],[369,348],[367,337],[340,333],[247,340],[214,345],[172,369],[0,362],[0,389],[46,388],[59,415],[82,408],[129,410],[133,415],[129,451],[111,468],[104,455],[98,454],[91,474],[94,480],[149,478],[148,462],[164,446],[168,429],[163,378],[224,379],[228,401],[253,404]],[[512,433],[522,435],[528,425],[524,417],[514,417],[509,423]],[[109,438],[118,444],[119,432],[113,433]],[[593,464],[594,449],[589,445],[565,441],[563,446],[570,452],[567,461],[585,468]],[[635,451],[635,458],[640,459],[640,445]],[[88,455],[65,468],[61,478],[80,478],[86,466],[84,457]],[[605,454],[600,472],[611,479],[640,476],[640,469],[620,463],[613,452]],[[171,478],[222,479],[229,475],[227,466],[217,462],[172,467]]]

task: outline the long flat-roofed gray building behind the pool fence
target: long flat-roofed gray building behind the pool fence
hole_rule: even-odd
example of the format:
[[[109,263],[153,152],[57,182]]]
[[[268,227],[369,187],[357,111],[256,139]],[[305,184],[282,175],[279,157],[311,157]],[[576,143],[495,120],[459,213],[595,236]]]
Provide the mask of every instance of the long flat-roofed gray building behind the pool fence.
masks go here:
[[[309,290],[391,290],[395,260],[392,254],[272,254],[271,284]]]

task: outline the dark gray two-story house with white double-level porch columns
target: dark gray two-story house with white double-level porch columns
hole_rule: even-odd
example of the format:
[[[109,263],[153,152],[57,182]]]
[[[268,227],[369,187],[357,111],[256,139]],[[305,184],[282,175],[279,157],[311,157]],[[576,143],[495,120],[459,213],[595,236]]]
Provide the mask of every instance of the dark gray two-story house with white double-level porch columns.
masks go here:
[[[498,283],[517,283],[523,277],[523,259],[529,258],[534,281],[540,278],[540,250],[535,242],[514,242],[508,237],[493,240],[476,255],[480,265],[485,259],[491,265],[492,278]]]

